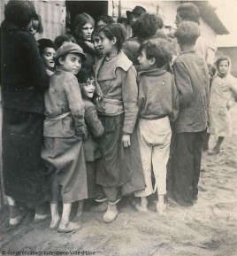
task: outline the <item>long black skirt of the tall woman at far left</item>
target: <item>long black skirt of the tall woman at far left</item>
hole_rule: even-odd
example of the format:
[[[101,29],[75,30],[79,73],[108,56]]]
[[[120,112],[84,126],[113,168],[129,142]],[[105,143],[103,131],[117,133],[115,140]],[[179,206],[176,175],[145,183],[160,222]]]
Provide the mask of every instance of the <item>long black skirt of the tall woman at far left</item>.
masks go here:
[[[43,115],[4,109],[4,191],[16,201],[35,203],[49,199],[46,169],[42,164]]]

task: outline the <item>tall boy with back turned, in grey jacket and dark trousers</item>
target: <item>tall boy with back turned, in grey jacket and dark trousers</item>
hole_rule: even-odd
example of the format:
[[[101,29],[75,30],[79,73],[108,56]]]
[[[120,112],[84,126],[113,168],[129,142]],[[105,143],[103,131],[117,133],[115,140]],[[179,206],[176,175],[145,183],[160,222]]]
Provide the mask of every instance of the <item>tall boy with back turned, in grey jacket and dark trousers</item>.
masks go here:
[[[174,35],[182,51],[173,64],[180,112],[175,121],[172,196],[182,206],[193,206],[208,123],[209,75],[205,60],[195,50],[195,41],[200,35],[195,22],[182,22]]]

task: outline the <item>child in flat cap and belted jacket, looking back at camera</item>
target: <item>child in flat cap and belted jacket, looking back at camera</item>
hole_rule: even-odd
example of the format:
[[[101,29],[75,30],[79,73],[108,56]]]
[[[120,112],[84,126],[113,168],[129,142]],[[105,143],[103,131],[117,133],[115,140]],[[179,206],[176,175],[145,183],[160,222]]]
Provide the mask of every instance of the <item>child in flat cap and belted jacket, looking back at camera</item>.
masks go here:
[[[69,221],[72,203],[88,198],[87,174],[82,150],[86,134],[84,105],[75,77],[86,56],[75,43],[65,43],[56,52],[57,71],[50,77],[45,94],[44,145],[42,159],[51,178],[50,229],[70,232],[81,228]],[[61,188],[62,187],[62,188]],[[63,213],[60,221],[58,194],[61,190]]]

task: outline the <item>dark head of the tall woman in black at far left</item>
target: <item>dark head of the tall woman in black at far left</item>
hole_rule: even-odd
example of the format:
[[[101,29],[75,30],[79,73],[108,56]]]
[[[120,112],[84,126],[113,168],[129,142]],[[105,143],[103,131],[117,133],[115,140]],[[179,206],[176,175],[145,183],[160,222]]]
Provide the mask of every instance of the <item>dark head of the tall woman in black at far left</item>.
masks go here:
[[[11,0],[4,10],[5,19],[20,27],[27,27],[34,15],[34,4],[26,0]]]

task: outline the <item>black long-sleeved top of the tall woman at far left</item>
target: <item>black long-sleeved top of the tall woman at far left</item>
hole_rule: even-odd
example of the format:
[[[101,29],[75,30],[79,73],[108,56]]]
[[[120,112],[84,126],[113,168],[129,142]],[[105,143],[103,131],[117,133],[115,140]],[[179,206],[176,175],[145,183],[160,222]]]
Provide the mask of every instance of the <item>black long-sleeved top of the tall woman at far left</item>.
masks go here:
[[[4,107],[43,113],[43,93],[49,87],[50,77],[34,36],[3,23],[1,38]]]

